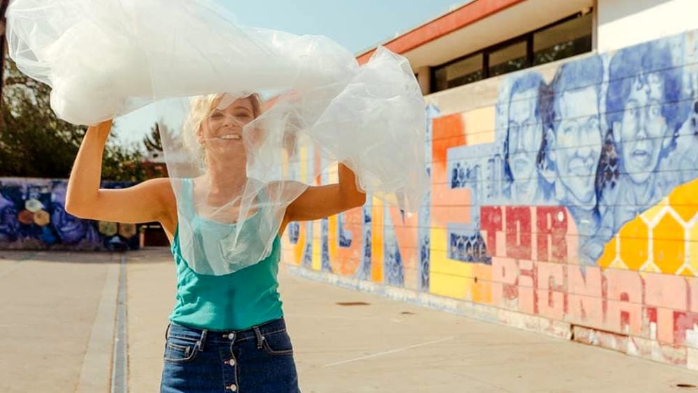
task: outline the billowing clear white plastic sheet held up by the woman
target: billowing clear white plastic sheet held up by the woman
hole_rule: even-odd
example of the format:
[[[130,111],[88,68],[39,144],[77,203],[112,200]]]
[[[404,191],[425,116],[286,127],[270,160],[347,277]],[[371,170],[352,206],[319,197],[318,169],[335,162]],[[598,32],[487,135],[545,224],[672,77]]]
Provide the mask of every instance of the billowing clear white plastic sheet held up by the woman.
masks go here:
[[[200,274],[267,258],[287,208],[329,165],[408,212],[426,194],[424,100],[408,61],[383,47],[359,66],[328,38],[241,27],[203,0],[15,0],[7,34],[66,121],[154,103],[181,254]]]

